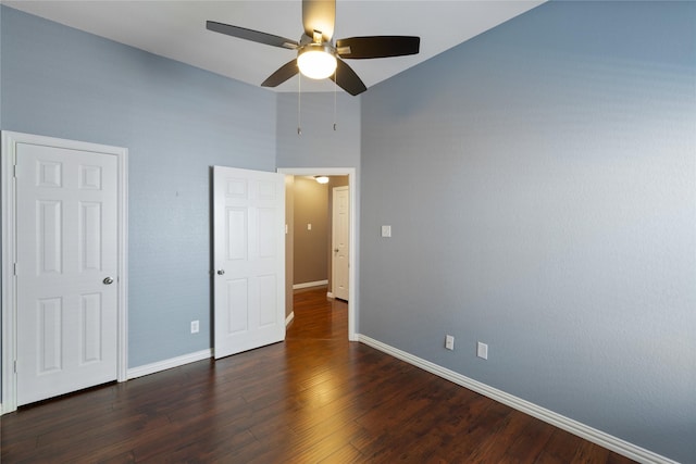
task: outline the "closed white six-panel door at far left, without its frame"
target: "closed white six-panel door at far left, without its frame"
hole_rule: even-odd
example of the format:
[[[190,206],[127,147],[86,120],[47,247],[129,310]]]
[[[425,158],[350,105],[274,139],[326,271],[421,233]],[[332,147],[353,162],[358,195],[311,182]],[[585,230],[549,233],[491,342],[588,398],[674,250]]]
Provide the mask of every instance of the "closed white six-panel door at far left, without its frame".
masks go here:
[[[17,405],[116,379],[117,160],[16,146]]]

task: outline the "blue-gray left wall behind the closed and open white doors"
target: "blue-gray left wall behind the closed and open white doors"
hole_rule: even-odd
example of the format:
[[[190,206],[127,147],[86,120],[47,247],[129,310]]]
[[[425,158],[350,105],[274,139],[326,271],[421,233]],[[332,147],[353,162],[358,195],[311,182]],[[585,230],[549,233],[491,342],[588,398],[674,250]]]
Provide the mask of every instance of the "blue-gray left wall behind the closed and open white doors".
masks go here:
[[[129,150],[129,367],[210,348],[210,166],[275,170],[275,95],[1,10],[2,129]]]

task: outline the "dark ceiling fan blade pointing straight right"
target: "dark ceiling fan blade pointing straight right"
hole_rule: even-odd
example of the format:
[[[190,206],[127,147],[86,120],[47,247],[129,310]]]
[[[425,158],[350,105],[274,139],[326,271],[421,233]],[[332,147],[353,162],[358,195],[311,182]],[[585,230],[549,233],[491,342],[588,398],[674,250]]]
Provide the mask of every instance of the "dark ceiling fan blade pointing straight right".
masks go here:
[[[351,60],[417,54],[420,47],[421,38],[413,36],[350,37],[336,40],[338,55]]]

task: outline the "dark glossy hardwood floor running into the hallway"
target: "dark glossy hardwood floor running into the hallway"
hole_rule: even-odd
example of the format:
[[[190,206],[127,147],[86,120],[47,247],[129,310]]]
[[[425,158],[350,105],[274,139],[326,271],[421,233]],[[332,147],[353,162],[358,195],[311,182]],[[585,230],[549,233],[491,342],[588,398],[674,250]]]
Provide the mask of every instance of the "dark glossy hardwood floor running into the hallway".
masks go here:
[[[2,416],[2,463],[631,463],[347,341],[300,291],[287,340]]]

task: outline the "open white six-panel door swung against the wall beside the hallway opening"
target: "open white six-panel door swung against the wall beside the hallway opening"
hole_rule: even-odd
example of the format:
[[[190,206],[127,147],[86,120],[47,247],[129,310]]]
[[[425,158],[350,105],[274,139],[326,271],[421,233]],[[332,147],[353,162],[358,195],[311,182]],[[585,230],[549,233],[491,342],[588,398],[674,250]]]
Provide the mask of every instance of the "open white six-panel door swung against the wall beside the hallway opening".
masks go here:
[[[285,176],[213,167],[215,359],[285,339]]]

